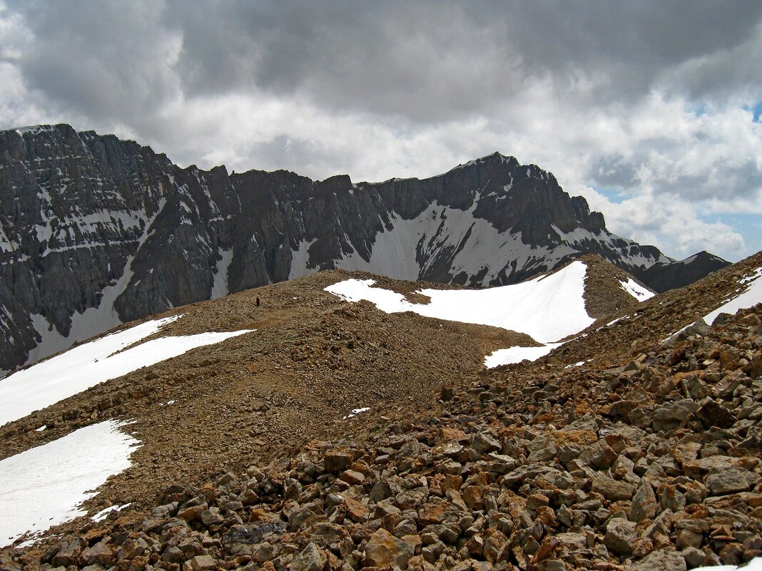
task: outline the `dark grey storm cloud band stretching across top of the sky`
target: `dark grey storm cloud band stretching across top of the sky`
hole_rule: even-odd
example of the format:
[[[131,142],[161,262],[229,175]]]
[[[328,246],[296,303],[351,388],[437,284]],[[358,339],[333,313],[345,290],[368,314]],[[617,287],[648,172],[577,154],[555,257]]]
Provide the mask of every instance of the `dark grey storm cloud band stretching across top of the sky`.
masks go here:
[[[86,115],[138,121],[174,97],[231,90],[436,123],[510,104],[552,78],[560,97],[632,100],[680,65],[693,97],[760,81],[732,53],[762,3],[18,2],[34,33],[27,86]],[[172,53],[172,39],[177,53]],[[709,58],[706,66],[690,62]],[[707,68],[711,72],[707,71]]]

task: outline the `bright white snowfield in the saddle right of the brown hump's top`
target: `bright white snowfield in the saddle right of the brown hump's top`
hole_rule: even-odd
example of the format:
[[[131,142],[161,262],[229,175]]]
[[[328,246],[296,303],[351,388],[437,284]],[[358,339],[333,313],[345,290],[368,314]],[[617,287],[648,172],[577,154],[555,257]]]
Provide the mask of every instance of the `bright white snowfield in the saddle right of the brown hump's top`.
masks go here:
[[[371,287],[373,279],[346,279],[325,290],[347,301],[370,301],[386,313],[413,311],[425,317],[491,325],[527,333],[546,344],[501,349],[504,352],[488,357],[488,366],[497,366],[516,362],[520,349],[525,355],[521,359],[538,359],[555,349],[547,344],[578,333],[595,321],[584,308],[587,270],[584,262],[576,261],[548,276],[498,288],[422,289],[420,293],[431,298],[428,304],[411,303],[402,294]]]

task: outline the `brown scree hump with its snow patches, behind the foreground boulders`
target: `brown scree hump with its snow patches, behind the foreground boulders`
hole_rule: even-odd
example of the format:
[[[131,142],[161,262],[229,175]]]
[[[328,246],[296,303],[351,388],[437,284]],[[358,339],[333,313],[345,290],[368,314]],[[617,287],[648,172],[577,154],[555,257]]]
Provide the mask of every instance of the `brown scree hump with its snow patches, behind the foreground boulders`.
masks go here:
[[[122,426],[120,418],[131,419],[130,430],[139,434],[141,449],[127,488],[145,500],[161,490],[162,480],[188,471],[197,474],[205,461],[214,467],[240,461],[245,451],[252,451],[252,434],[261,444],[278,442],[283,435],[299,438],[305,429],[317,430],[315,421],[409,406],[411,399],[430,400],[443,379],[453,382],[478,372],[482,361],[495,366],[495,349],[549,352],[562,338],[608,315],[604,305],[608,311],[635,307],[631,281],[596,257],[584,257],[531,282],[479,290],[433,283],[421,289],[421,282],[331,271],[269,291],[187,306],[182,313],[82,343],[0,382],[0,423],[7,423],[0,430],[5,438],[0,458],[8,455],[12,464],[0,460],[5,470],[0,486],[18,492],[0,504],[13,514],[0,524],[0,532],[8,525],[21,532],[44,530],[48,517],[27,509],[32,472],[36,482],[46,483],[34,484],[35,490],[46,489],[45,496],[37,495],[41,515],[59,522],[77,512],[87,488],[78,490],[70,505],[59,499],[56,506],[66,508],[63,512],[46,513],[44,498],[55,496],[60,486],[59,496],[70,495],[71,482],[58,474],[88,451],[71,450],[67,444],[64,458],[53,448],[85,427],[99,427],[92,439],[110,439],[114,423]],[[363,292],[393,304],[383,303],[377,311],[343,301],[347,287],[371,282],[374,286]],[[257,297],[264,305],[256,305]],[[484,309],[464,319],[469,307]],[[501,309],[495,313],[489,307]],[[389,312],[392,318],[385,317]],[[549,319],[562,313],[567,319]],[[528,320],[528,315],[535,318]],[[277,405],[274,416],[264,413],[269,404]],[[281,417],[289,422],[280,424]],[[219,446],[213,442],[220,432],[243,446],[226,450],[225,460],[207,456]],[[202,434],[211,440],[200,439]],[[203,445],[189,454],[189,441]],[[34,458],[40,458],[48,448],[56,456],[49,470],[25,466],[25,457],[19,456],[35,450]]]

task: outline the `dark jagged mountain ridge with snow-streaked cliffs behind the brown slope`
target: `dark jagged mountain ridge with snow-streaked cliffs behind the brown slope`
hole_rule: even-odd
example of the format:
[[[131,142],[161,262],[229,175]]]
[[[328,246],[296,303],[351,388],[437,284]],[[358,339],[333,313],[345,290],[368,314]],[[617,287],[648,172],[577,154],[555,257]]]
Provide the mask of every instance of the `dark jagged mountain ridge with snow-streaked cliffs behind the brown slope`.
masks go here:
[[[499,154],[425,180],[354,184],[182,169],[68,125],[0,132],[0,370],[125,321],[318,270],[482,287],[582,254],[641,279],[672,263],[611,234],[552,174]]]

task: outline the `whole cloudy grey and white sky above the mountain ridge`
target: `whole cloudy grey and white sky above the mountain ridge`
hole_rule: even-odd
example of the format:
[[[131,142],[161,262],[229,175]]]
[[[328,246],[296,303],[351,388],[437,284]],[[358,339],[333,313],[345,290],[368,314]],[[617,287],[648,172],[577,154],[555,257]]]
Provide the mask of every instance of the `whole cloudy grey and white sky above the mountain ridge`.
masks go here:
[[[186,166],[427,177],[499,151],[671,257],[762,249],[762,2],[0,0],[0,128]]]

